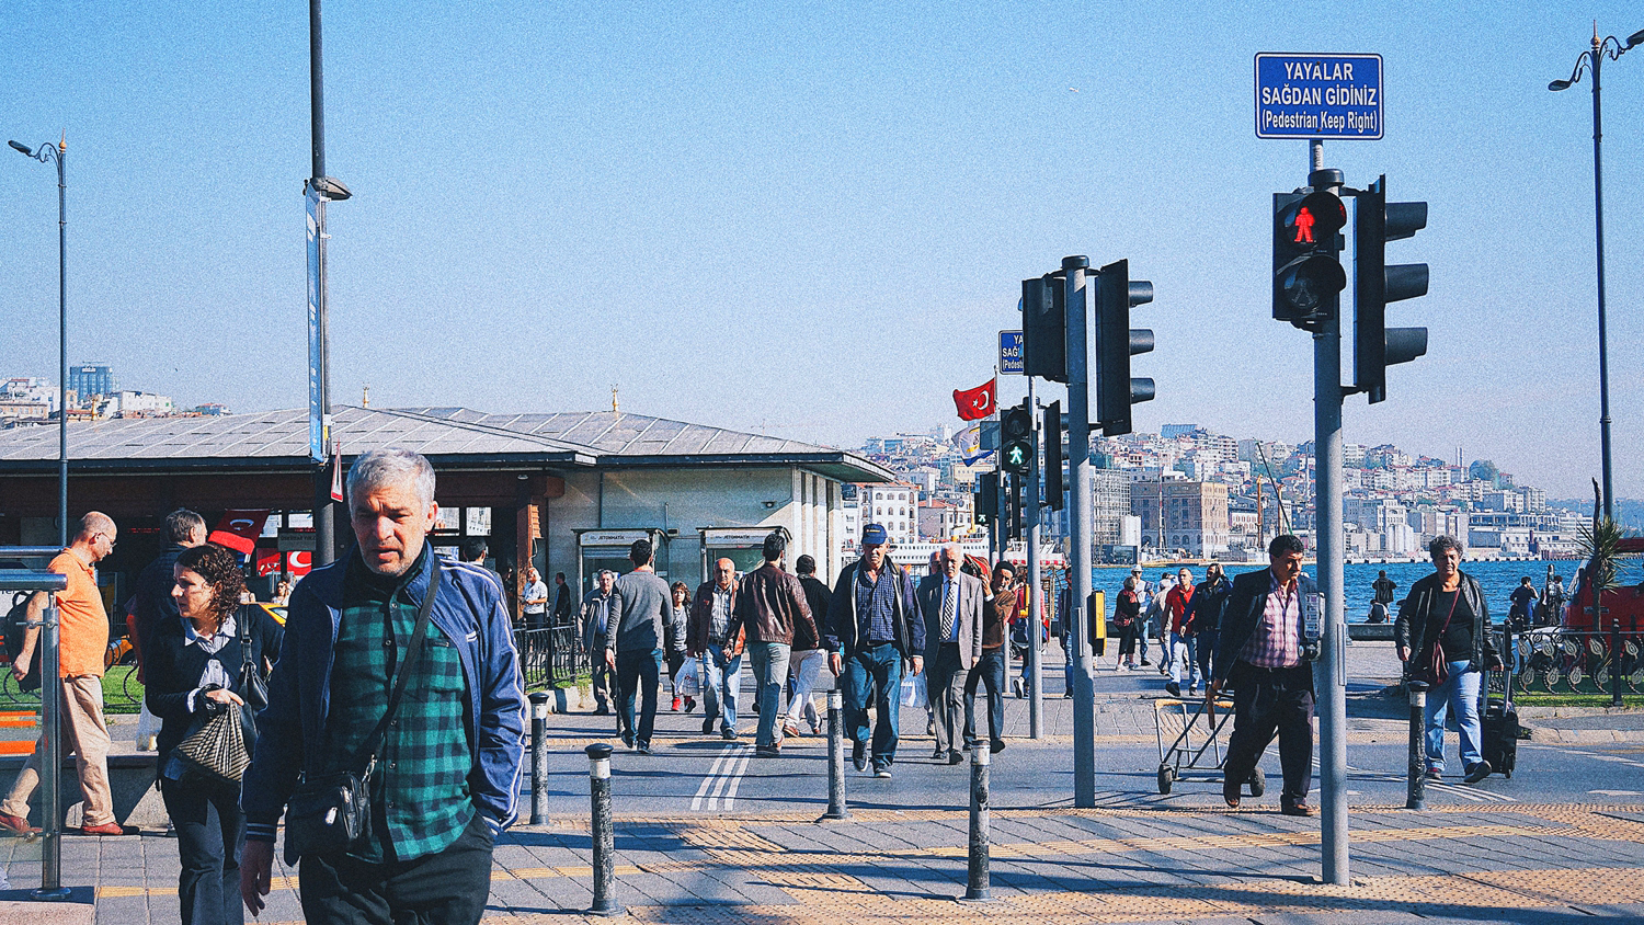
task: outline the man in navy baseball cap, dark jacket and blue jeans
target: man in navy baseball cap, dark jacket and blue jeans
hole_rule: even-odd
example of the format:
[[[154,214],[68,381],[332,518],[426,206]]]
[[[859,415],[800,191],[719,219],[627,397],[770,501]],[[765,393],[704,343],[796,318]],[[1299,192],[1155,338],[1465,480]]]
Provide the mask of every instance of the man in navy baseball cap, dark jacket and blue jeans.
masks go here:
[[[868,769],[868,703],[876,708],[873,775],[889,779],[896,761],[896,715],[903,667],[924,670],[924,619],[907,572],[886,557],[880,524],[861,531],[861,559],[838,573],[822,633],[829,667],[845,688],[845,734],[857,771]]]

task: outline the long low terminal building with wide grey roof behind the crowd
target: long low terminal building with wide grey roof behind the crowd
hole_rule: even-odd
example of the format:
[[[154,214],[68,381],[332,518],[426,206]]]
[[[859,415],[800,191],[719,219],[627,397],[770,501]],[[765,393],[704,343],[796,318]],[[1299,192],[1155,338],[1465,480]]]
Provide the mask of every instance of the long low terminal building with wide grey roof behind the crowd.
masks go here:
[[[758,567],[778,527],[789,534],[789,564],[810,554],[832,580],[855,539],[842,532],[842,483],[894,480],[845,450],[618,411],[339,406],[332,439],[344,467],[381,447],[426,455],[441,508],[432,545],[455,552],[485,539],[515,593],[520,562],[531,562],[551,588],[564,572],[580,596],[600,568],[630,570],[628,545],[641,537],[656,547],[661,577],[695,588],[715,559]],[[252,532],[263,578],[252,588],[261,598],[279,573],[306,572],[312,473],[306,409],[69,424],[71,522],[95,509],[120,527],[99,568],[110,613],[164,549],[164,516],[176,508],[199,511],[209,527],[260,524]],[[56,544],[56,509],[58,427],[0,430],[0,545]],[[337,542],[350,541],[339,506]]]

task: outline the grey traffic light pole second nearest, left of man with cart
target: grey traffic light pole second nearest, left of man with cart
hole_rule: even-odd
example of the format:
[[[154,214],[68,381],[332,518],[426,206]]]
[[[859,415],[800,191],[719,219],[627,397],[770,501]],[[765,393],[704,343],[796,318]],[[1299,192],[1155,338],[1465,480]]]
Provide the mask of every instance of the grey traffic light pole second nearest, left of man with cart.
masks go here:
[[[1074,805],[1097,805],[1097,713],[1090,677],[1090,639],[1085,601],[1090,600],[1090,350],[1085,337],[1090,324],[1087,311],[1085,271],[1090,260],[1064,256],[1067,286],[1067,465],[1070,488],[1069,524],[1069,657],[1074,665]]]

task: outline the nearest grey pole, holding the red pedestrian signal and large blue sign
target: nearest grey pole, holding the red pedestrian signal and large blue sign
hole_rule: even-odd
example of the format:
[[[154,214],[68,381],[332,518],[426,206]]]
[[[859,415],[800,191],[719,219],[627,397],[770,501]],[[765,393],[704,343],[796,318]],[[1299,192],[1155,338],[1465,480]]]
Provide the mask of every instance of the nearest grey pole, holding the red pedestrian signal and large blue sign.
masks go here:
[[[1310,145],[1315,184],[1325,177],[1323,143]],[[1333,174],[1340,182],[1340,174]],[[1320,856],[1327,884],[1348,884],[1346,825],[1346,588],[1342,568],[1342,311],[1314,334],[1314,453],[1318,590],[1323,595],[1320,654],[1314,662],[1318,715]]]

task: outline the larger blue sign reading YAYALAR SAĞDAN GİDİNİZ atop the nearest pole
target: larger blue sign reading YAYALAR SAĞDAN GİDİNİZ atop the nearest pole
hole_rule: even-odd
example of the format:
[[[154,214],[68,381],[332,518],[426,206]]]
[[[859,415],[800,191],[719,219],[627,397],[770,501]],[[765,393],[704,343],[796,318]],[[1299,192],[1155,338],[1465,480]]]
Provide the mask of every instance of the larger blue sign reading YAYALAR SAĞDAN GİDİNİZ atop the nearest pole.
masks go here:
[[[1256,54],[1256,138],[1381,138],[1381,56]]]

